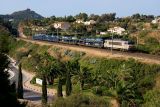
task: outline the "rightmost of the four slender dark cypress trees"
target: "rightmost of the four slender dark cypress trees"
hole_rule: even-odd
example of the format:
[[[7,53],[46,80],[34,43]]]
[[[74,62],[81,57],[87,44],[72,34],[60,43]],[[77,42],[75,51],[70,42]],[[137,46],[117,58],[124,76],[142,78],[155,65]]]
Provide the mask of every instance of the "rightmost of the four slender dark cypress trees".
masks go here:
[[[66,96],[69,96],[72,92],[72,83],[71,83],[71,75],[70,72],[67,71],[66,74]]]

